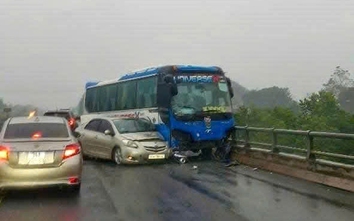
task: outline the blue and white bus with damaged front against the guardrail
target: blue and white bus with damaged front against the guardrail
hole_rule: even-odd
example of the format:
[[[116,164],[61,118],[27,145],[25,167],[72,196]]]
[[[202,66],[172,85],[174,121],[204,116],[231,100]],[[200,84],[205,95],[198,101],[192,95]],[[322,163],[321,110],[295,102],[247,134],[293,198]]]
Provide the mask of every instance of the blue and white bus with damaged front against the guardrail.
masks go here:
[[[234,130],[231,81],[217,66],[151,67],[85,90],[82,123],[96,115],[148,118],[175,150],[209,153]]]

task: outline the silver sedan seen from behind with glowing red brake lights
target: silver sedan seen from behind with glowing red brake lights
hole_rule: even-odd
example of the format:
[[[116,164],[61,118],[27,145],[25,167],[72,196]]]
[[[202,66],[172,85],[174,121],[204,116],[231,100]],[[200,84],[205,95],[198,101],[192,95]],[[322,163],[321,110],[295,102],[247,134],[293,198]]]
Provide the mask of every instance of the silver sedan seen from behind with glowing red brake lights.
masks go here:
[[[0,135],[0,189],[67,186],[80,192],[81,147],[64,118],[9,118]]]

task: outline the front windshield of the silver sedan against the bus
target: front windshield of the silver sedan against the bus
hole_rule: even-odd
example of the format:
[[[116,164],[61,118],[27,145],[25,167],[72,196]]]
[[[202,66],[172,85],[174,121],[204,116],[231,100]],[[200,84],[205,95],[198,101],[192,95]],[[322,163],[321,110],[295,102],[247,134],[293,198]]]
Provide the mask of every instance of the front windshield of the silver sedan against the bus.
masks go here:
[[[155,125],[145,119],[119,119],[113,123],[121,134],[156,131]]]

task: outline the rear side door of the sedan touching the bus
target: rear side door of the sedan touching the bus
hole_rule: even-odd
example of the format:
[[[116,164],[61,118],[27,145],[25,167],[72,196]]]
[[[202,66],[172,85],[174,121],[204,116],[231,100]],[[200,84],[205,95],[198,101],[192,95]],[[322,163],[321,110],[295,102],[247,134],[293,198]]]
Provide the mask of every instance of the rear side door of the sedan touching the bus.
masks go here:
[[[98,128],[101,124],[100,119],[91,120],[82,131],[80,131],[79,140],[83,148],[84,154],[96,156]]]

